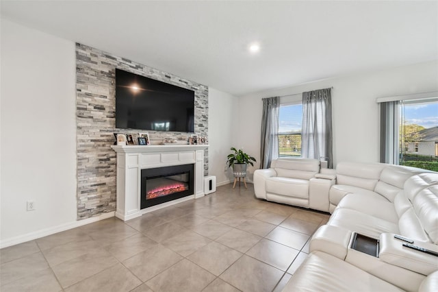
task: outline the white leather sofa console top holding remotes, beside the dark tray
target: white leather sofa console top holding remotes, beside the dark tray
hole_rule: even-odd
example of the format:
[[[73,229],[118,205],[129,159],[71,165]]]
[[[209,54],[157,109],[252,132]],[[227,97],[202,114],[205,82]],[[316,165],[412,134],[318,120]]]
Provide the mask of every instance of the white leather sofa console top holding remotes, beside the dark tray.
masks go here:
[[[382,233],[380,236],[381,250],[378,254],[379,258],[385,263],[409,269],[425,276],[438,270],[438,256],[412,250],[409,247],[404,247],[403,243],[403,241],[394,239],[392,233]],[[413,245],[438,252],[438,246],[433,243],[415,241]]]

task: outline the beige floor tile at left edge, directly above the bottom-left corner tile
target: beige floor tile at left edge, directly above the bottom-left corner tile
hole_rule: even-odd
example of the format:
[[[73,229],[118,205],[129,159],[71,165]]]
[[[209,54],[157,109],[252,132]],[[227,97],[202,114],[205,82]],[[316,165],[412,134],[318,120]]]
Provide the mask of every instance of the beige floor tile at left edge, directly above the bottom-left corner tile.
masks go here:
[[[18,258],[0,265],[0,283],[3,286],[47,268],[49,268],[49,264],[41,252]]]

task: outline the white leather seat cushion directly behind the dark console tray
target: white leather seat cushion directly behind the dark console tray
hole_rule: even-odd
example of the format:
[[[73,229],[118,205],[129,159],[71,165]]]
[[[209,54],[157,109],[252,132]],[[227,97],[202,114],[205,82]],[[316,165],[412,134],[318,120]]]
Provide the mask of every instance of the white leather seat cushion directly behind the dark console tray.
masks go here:
[[[378,239],[381,233],[385,232],[400,234],[398,224],[396,223],[344,208],[337,208],[327,224],[355,231],[376,239]]]

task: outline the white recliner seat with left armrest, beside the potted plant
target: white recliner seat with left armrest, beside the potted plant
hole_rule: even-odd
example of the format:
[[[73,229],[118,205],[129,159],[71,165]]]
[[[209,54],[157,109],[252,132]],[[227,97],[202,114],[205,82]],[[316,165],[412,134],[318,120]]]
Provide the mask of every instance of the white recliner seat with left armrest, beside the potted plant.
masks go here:
[[[320,161],[305,158],[272,160],[269,169],[254,172],[259,199],[309,208],[309,180],[320,171]]]

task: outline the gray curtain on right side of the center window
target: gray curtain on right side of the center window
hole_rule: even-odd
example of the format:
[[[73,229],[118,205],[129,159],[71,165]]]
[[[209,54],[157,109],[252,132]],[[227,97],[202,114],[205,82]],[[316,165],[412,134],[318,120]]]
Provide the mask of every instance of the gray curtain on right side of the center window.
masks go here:
[[[333,168],[331,88],[302,93],[301,156],[327,160]]]

